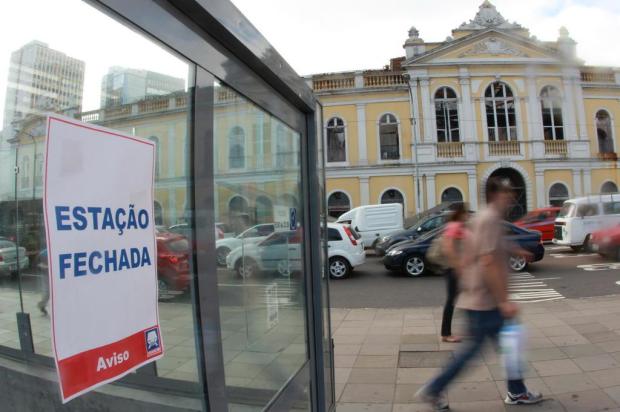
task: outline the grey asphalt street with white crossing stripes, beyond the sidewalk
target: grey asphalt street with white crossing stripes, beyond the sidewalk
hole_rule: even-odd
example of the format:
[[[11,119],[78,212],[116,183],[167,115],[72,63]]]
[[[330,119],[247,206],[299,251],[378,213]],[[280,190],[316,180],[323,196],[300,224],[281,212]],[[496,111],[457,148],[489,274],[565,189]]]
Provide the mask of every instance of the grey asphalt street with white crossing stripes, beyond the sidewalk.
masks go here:
[[[546,245],[543,260],[511,277],[511,294],[520,302],[540,302],[620,293],[620,262],[596,253]],[[445,298],[441,276],[410,278],[385,269],[382,259],[367,252],[366,263],[343,280],[330,282],[334,308],[405,308],[438,306]]]

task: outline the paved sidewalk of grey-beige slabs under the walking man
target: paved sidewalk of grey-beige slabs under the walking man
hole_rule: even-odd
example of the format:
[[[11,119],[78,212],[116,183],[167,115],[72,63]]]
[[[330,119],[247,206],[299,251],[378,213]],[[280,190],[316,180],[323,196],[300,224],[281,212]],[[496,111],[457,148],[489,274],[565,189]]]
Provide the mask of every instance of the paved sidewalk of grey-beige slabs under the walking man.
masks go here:
[[[521,305],[526,383],[545,401],[505,407],[487,347],[448,391],[454,411],[620,411],[620,296]],[[440,343],[441,308],[332,309],[338,411],[424,412],[413,394],[462,344]],[[455,316],[455,333],[464,319]]]

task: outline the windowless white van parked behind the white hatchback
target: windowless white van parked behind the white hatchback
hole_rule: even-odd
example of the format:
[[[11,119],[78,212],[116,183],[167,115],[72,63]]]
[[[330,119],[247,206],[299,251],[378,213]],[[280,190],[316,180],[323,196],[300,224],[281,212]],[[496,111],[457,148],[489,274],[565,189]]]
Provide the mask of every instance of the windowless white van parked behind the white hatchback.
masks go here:
[[[403,205],[388,203],[356,207],[341,215],[336,223],[350,225],[362,237],[364,247],[374,247],[383,236],[403,230]]]

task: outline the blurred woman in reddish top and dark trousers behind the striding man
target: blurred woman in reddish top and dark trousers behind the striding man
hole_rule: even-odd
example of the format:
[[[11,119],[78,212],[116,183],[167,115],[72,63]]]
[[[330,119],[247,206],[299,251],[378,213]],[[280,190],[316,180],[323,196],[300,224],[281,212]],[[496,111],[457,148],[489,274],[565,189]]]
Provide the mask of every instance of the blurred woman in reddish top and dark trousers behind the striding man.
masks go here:
[[[454,314],[454,302],[458,294],[458,276],[462,270],[463,241],[467,236],[465,222],[468,213],[465,203],[455,205],[450,220],[444,229],[442,236],[442,252],[447,260],[445,271],[447,297],[443,307],[441,320],[441,340],[444,342],[460,342],[461,339],[452,335],[452,315]]]

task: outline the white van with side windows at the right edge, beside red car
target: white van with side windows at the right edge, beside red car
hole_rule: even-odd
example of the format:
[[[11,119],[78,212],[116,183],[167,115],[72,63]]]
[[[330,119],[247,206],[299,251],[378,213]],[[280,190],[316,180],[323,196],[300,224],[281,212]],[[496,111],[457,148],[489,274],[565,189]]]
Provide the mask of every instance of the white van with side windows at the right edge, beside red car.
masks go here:
[[[620,194],[591,195],[564,202],[555,219],[553,243],[590,250],[592,233],[620,223]]]

